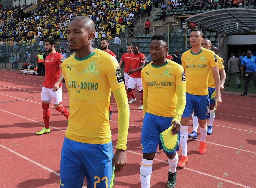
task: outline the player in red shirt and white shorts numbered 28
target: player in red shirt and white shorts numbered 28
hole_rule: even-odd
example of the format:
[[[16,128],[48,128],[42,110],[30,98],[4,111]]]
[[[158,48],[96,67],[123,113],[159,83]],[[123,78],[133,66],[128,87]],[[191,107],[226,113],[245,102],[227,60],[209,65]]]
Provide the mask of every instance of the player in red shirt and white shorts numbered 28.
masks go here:
[[[144,54],[139,52],[140,46],[139,44],[133,44],[131,58],[131,70],[127,72],[129,75],[128,86],[127,86],[127,97],[128,101],[131,97],[132,90],[134,90],[137,86],[137,89],[140,92],[141,105],[138,108],[139,110],[143,110],[143,87],[141,80],[141,69],[145,66],[145,56]],[[129,103],[132,103],[135,99],[131,99]]]

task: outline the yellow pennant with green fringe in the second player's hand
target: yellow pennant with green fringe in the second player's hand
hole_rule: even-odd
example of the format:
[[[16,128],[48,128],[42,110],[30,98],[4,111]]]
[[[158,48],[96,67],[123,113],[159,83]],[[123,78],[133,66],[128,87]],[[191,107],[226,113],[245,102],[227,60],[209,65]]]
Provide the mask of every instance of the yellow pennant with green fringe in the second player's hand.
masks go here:
[[[179,140],[178,134],[172,135],[171,133],[172,127],[173,127],[173,124],[171,127],[161,132],[159,135],[163,149],[166,150],[167,152],[175,151],[178,140]]]

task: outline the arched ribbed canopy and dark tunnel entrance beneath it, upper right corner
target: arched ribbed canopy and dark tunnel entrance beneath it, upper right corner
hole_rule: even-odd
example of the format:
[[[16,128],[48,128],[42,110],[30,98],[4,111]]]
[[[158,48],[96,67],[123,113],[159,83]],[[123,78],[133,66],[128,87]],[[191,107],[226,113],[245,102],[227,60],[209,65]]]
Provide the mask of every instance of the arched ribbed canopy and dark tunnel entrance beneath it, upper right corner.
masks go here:
[[[218,35],[219,53],[224,59],[224,66],[230,54],[239,57],[242,52],[251,50],[256,54],[256,10],[255,9],[220,9],[204,12],[185,19],[186,22],[194,23],[202,28],[203,33],[214,32]],[[205,32],[204,32],[205,31]],[[208,38],[207,34],[204,38]],[[213,40],[212,34],[209,40]]]

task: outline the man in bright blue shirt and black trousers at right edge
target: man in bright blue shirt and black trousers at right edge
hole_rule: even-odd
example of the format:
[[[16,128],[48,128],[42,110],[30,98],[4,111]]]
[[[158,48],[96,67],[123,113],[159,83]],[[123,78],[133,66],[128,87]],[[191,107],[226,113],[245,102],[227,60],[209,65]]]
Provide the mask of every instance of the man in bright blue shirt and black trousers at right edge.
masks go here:
[[[241,76],[245,78],[244,93],[241,94],[242,96],[247,96],[251,78],[253,78],[253,82],[256,88],[256,57],[252,56],[252,52],[250,50],[247,51],[246,55],[247,56],[242,59],[241,63]],[[246,67],[245,75],[243,74],[244,67]]]

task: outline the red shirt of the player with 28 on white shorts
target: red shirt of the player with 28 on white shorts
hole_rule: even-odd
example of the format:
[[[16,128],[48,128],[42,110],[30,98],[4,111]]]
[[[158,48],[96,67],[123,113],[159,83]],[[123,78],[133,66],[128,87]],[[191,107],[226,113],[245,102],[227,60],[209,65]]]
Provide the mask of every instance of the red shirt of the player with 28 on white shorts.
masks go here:
[[[134,69],[138,69],[140,67],[140,63],[145,63],[145,56],[144,54],[140,53],[135,55],[135,54],[131,54],[131,70]],[[141,70],[140,71],[136,71],[133,72],[132,74],[130,74],[131,77],[133,78],[141,78]]]

